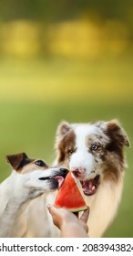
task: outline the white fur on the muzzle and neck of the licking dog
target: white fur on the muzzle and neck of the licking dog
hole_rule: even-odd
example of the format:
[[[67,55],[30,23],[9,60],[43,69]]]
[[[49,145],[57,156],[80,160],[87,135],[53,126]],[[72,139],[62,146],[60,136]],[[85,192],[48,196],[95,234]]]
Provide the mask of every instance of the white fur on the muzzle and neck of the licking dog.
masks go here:
[[[21,219],[21,214],[24,213],[22,208],[28,202],[29,199],[33,199],[38,197],[48,191],[50,191],[49,185],[47,180],[40,180],[39,177],[47,177],[52,176],[53,172],[55,174],[55,168],[49,168],[45,171],[35,170],[33,172],[20,174],[17,173],[15,170],[12,172],[11,176],[7,177],[4,182],[0,185],[0,237],[14,237],[15,233],[22,235],[22,230],[19,230],[18,227],[20,225],[19,221],[17,223],[16,219]],[[47,201],[46,201],[47,203]],[[42,205],[42,203],[41,203]],[[38,206],[36,205],[36,208]],[[43,214],[43,210],[41,209]],[[45,210],[44,210],[45,212]],[[24,225],[27,224],[26,216],[22,214],[22,226],[23,229]],[[36,218],[45,218],[45,216],[36,216]],[[47,218],[47,217],[46,217]],[[52,221],[51,221],[52,223]],[[45,224],[42,223],[42,225]],[[18,225],[18,226],[17,226]],[[34,219],[33,223],[34,225]],[[21,225],[20,225],[21,227]],[[19,227],[19,228],[20,228]],[[21,227],[22,228],[22,227]],[[40,227],[37,227],[40,228]],[[31,237],[33,234],[28,230],[26,227],[25,230],[27,233],[29,232]],[[44,232],[47,231],[49,234],[49,227],[48,229],[44,229]]]

